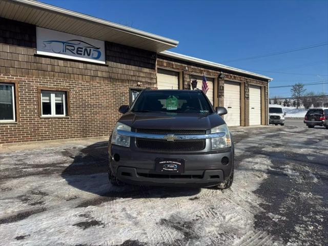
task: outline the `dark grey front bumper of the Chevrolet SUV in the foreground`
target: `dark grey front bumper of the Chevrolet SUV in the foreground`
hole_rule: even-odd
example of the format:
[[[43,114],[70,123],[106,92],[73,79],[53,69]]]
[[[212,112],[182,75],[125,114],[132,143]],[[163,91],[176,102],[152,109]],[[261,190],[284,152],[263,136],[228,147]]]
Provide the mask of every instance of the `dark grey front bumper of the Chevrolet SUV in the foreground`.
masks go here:
[[[118,161],[113,158],[115,154],[119,155]],[[221,163],[223,157],[229,158],[227,165]],[[178,175],[158,173],[155,169],[156,158],[183,159],[185,170]],[[230,176],[233,162],[233,148],[197,153],[135,151],[116,145],[111,145],[109,149],[109,168],[112,174],[119,180],[134,185],[215,186]]]

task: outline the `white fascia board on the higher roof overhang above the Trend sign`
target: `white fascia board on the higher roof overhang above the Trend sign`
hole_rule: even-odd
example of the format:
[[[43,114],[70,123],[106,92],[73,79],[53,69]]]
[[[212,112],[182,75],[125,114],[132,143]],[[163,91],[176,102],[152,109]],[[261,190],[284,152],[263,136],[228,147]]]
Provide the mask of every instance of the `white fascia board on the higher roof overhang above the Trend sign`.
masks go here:
[[[81,14],[81,13],[78,13],[78,12],[74,12],[74,11],[71,11],[71,10],[67,10],[67,9],[55,7],[55,6],[52,6],[52,5],[40,3],[40,2],[37,2],[37,1],[33,1],[33,0],[11,0],[11,1],[16,2],[16,3],[20,3],[20,4],[29,5],[29,6],[32,6],[32,7],[35,7],[35,8],[44,9],[44,10],[47,10],[47,11],[52,11],[52,12],[55,12],[55,13],[58,13],[58,14],[63,14],[63,15],[68,15],[68,16],[71,16],[71,17],[79,18],[79,19],[88,20],[89,22],[93,22],[95,24],[104,25],[106,27],[113,28],[113,29],[116,29],[116,30],[119,30],[119,31],[122,31],[122,32],[127,32],[127,33],[135,34],[135,35],[138,35],[138,36],[142,36],[142,37],[145,37],[145,38],[149,38],[149,39],[152,39],[152,40],[156,40],[158,42],[165,43],[165,44],[168,44],[168,45],[171,45],[171,46],[174,46],[174,47],[176,47],[179,44],[179,42],[177,40],[174,40],[174,39],[171,39],[171,38],[166,38],[166,37],[162,37],[162,36],[152,34],[152,33],[149,33],[149,32],[140,31],[140,30],[137,30],[137,29],[134,29],[134,28],[131,28],[131,27],[126,27],[126,26],[123,26],[123,25],[119,25],[119,24],[116,24],[116,23],[109,22],[108,20],[92,17],[90,15]]]

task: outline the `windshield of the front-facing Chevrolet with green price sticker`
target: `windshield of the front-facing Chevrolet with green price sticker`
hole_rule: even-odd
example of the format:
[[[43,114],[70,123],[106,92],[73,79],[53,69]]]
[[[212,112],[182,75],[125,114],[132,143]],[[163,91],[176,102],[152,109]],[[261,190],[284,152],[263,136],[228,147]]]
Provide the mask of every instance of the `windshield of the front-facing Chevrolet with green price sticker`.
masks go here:
[[[144,91],[132,112],[213,113],[211,105],[201,91]]]

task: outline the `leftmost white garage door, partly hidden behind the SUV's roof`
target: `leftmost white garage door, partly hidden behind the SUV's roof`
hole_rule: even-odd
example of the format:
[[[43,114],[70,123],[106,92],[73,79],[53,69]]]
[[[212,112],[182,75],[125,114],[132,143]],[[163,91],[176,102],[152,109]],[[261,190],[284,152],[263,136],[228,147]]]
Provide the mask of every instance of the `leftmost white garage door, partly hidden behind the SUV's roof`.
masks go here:
[[[157,69],[157,89],[179,89],[179,73],[169,70]]]

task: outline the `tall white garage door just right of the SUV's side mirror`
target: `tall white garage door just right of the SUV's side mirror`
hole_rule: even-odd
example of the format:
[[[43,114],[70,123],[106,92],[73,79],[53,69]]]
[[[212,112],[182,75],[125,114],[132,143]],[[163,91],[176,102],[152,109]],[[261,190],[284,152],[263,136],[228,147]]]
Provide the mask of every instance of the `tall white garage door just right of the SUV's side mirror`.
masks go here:
[[[240,126],[240,84],[237,82],[224,82],[224,107],[228,114],[224,120],[229,127]]]

